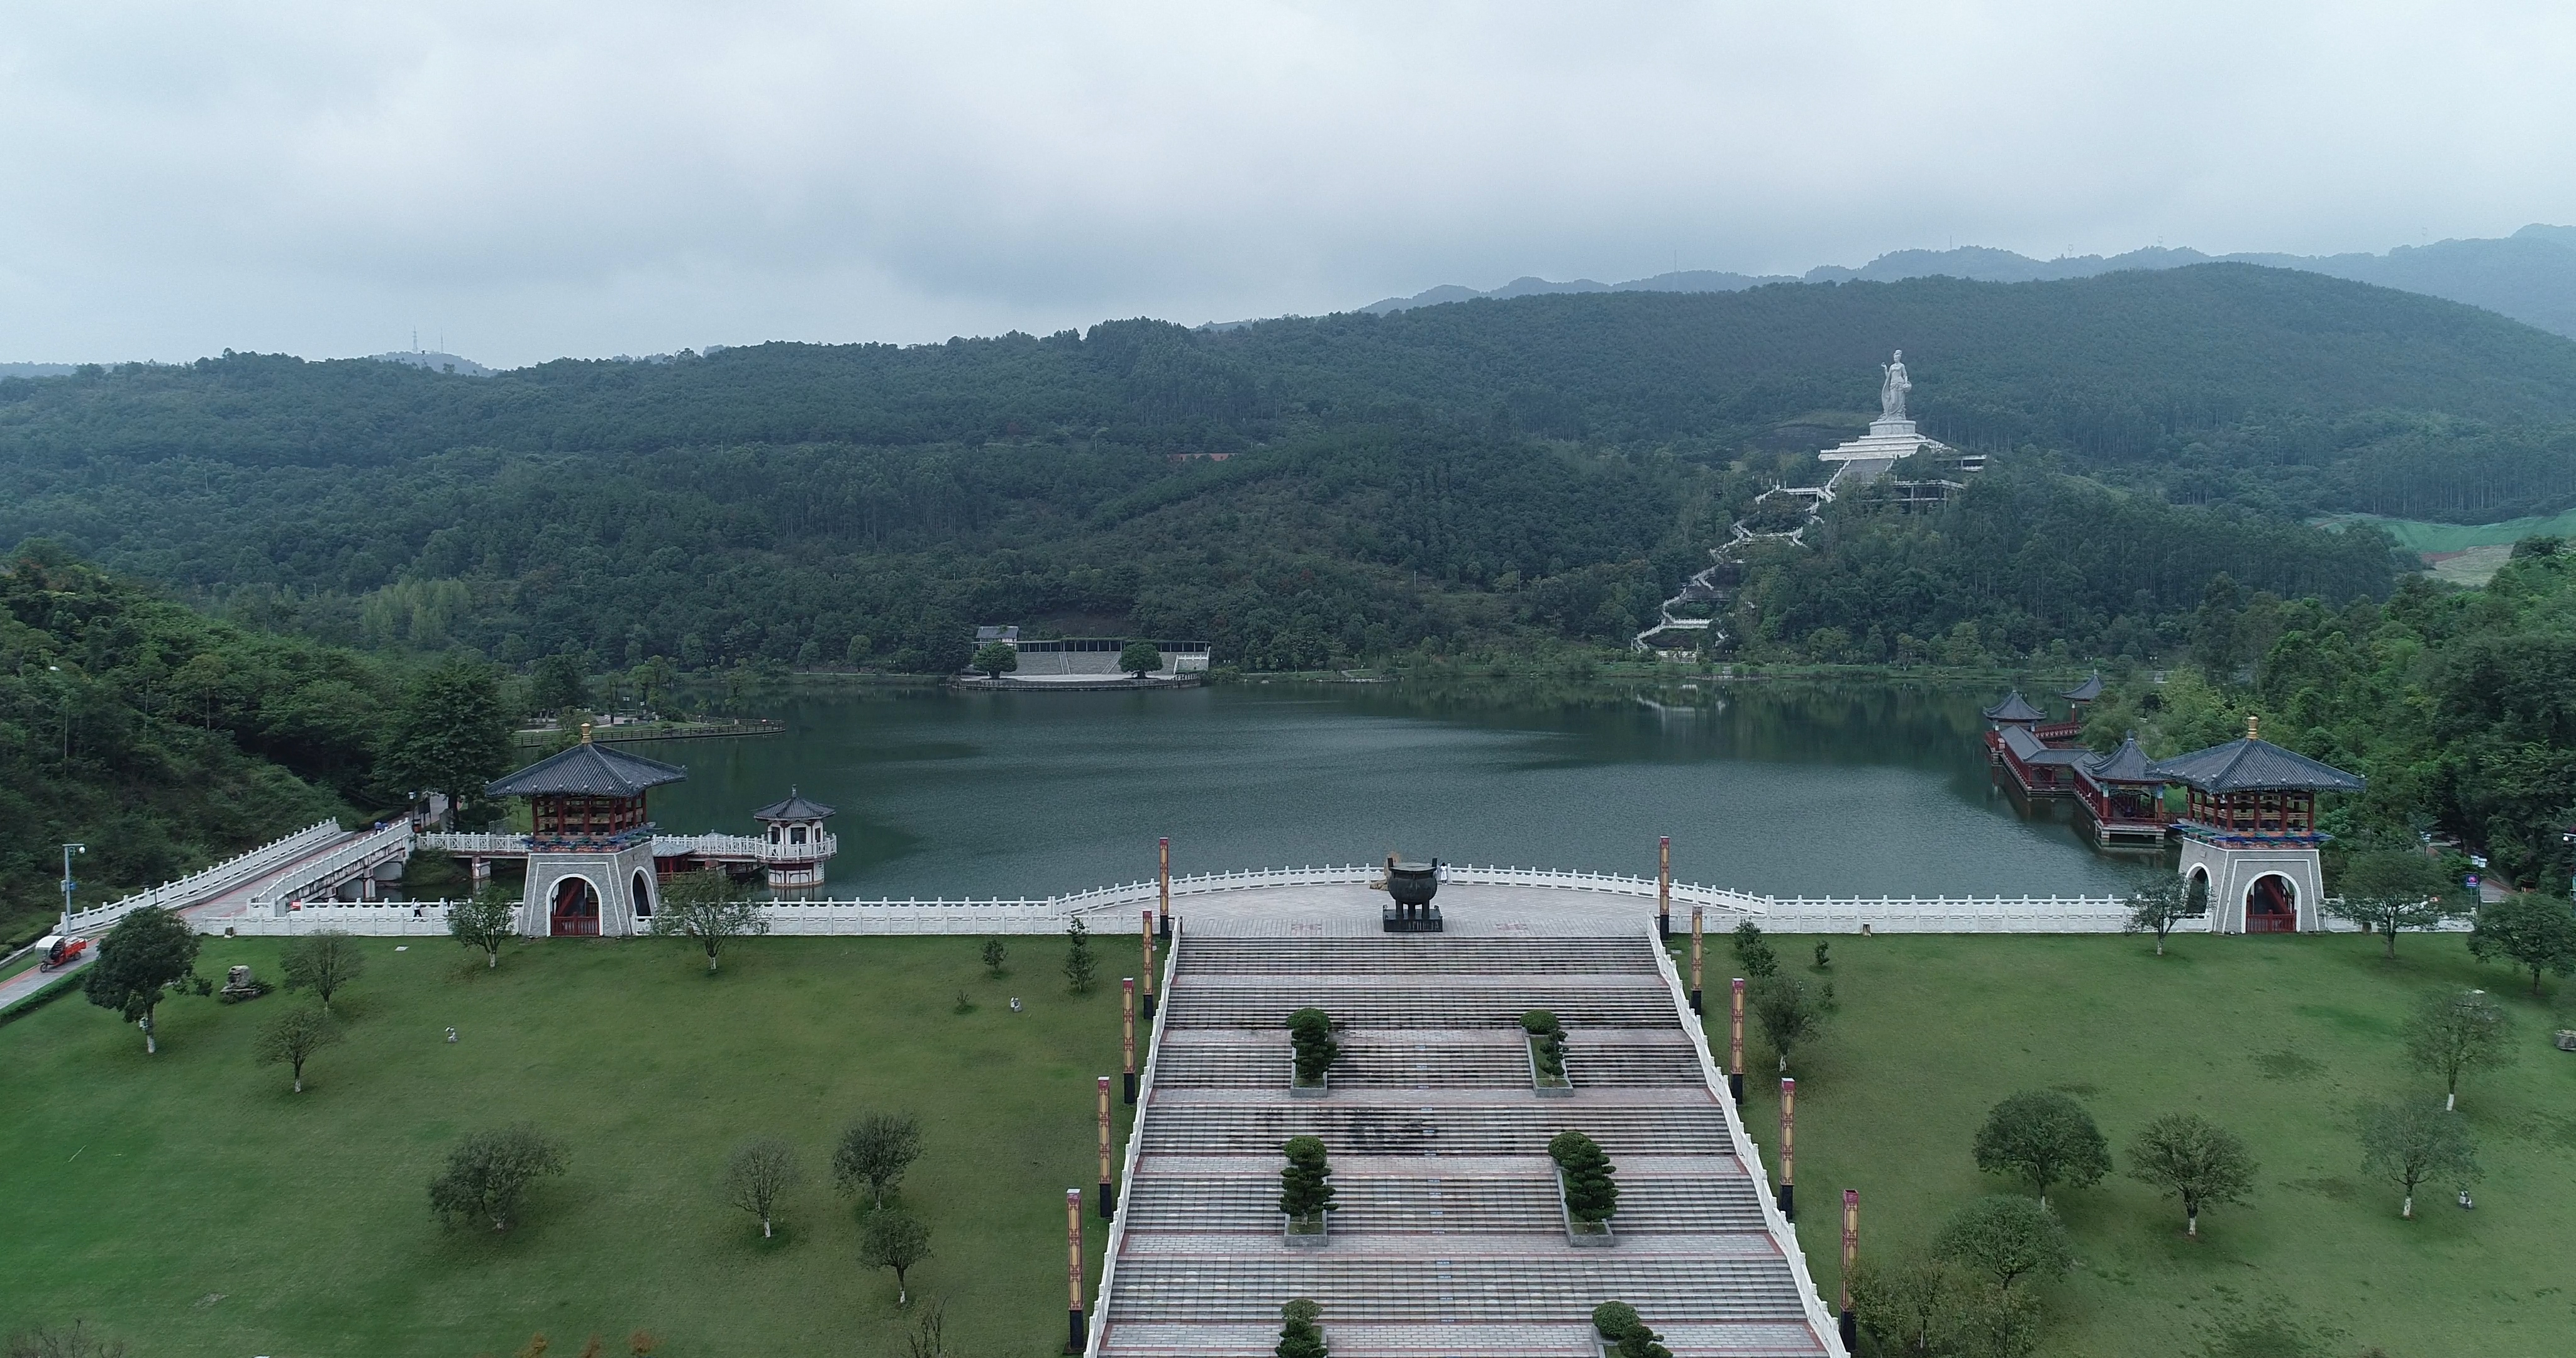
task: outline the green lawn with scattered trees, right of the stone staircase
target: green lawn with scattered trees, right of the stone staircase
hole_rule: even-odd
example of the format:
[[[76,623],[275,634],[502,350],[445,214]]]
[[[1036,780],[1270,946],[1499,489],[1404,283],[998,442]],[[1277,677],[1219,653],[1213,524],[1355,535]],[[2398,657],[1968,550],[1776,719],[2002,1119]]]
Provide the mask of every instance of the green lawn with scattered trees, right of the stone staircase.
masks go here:
[[[2458,935],[2406,935],[2396,964],[2357,935],[2177,938],[2164,959],[2141,938],[1832,943],[1842,1010],[1790,1069],[1798,1206],[1826,1304],[1842,1188],[1860,1191],[1862,1258],[1922,1247],[1973,1196],[2020,1191],[1968,1157],[1986,1108],[2058,1087],[2102,1124],[2115,1178],[2050,1196],[2081,1263],[2045,1291],[2040,1353],[2576,1353],[2576,1054],[2550,1046],[2576,1013],[2476,966]],[[1783,938],[1783,969],[1814,977],[1811,948]],[[1723,977],[1723,946],[1713,953]],[[2478,1209],[2427,1185],[2401,1221],[2396,1185],[2360,1170],[2354,1111],[2442,1098],[2403,1067],[2398,1026],[2416,995],[2447,984],[2509,1000],[2519,1059],[2460,1090],[2486,1167]],[[1772,1157],[1777,1085],[1759,1036],[1749,1046],[1747,1124]],[[2236,1131],[2262,1165],[2251,1203],[2205,1211],[2197,1245],[2177,1201],[2120,1178],[2128,1136],[2169,1111]]]

